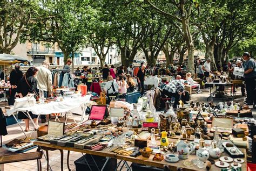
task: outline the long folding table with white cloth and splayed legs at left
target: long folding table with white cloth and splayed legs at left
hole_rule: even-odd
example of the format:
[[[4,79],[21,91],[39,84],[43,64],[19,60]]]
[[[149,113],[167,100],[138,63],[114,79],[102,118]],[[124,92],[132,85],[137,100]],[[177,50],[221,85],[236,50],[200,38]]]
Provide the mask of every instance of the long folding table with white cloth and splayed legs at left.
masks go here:
[[[86,110],[86,103],[90,101],[89,95],[85,97],[79,97],[79,98],[64,98],[63,101],[60,102],[50,102],[50,103],[44,103],[44,104],[35,104],[31,107],[27,108],[18,108],[18,109],[10,109],[6,110],[8,116],[13,115],[16,122],[18,123],[17,118],[15,117],[16,112],[24,112],[25,115],[29,117],[32,124],[37,127],[37,123],[33,122],[33,119],[29,115],[29,112],[31,111],[34,115],[38,115],[38,118],[40,115],[49,115],[51,113],[66,113],[68,112],[72,116],[72,112],[77,113],[77,110],[79,109],[81,112],[81,122],[83,121],[85,110]],[[66,116],[66,121],[68,119],[68,116]],[[18,123],[19,127],[21,125]],[[22,127],[21,127],[22,129]],[[22,129],[23,133],[25,134],[24,130]],[[25,134],[26,136],[26,134]]]

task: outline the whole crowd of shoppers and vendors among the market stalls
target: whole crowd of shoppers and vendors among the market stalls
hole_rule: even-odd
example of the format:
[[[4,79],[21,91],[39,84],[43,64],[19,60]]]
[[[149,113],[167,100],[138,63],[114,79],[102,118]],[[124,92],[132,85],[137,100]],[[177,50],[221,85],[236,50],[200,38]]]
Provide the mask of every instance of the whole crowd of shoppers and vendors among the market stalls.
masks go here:
[[[245,81],[245,85],[241,85],[241,92],[242,96],[247,95],[245,101],[246,104],[251,105],[255,100],[256,66],[255,61],[251,58],[249,53],[245,52],[242,55],[242,59],[243,61],[238,59],[234,62],[224,62],[222,67],[220,67],[219,62],[217,62],[217,71],[221,73],[229,73],[229,76],[232,79]],[[71,64],[72,60],[68,59],[63,69],[70,70]],[[209,77],[211,74],[213,74],[211,70],[211,59],[206,59],[205,62],[196,59],[194,65],[196,68],[197,77],[203,81],[205,81],[206,77]],[[39,89],[43,90],[45,98],[52,96],[52,75],[51,71],[49,70],[49,66],[49,62],[43,61],[41,66],[30,67],[23,75],[20,70],[20,66],[15,65],[15,68],[11,71],[9,76],[11,84],[9,105],[14,104],[16,97],[24,97],[29,94],[34,94],[35,97],[38,97]],[[242,77],[233,75],[232,73],[234,67],[244,68],[244,76]],[[82,70],[77,68],[74,74],[82,79],[82,83],[86,84],[87,90],[90,91],[93,76],[95,76],[97,73],[101,73],[102,79],[106,81],[104,86],[106,95],[109,97],[113,96],[118,98],[125,98],[127,92],[137,91],[137,85],[140,95],[144,95],[144,83],[147,70],[153,74],[158,72],[160,75],[164,74],[176,76],[175,80],[170,81],[163,87],[163,95],[169,98],[174,98],[174,108],[177,107],[180,99],[183,101],[183,103],[186,103],[186,101],[189,100],[189,93],[184,89],[186,84],[190,84],[192,88],[197,89],[198,94],[201,93],[200,89],[202,87],[200,84],[192,79],[191,73],[185,72],[185,64],[178,66],[170,65],[169,67],[159,66],[157,70],[152,70],[152,68],[145,66],[143,62],[139,67],[133,67],[130,65],[128,67],[120,66],[116,68],[111,65],[109,68],[108,65],[105,65],[104,68],[97,69],[84,66]],[[30,115],[31,118],[36,118],[32,113],[30,113]],[[23,113],[19,113],[18,119],[25,120],[25,130],[29,131],[28,116],[25,116]],[[44,115],[41,116],[41,119],[42,123],[46,121]]]

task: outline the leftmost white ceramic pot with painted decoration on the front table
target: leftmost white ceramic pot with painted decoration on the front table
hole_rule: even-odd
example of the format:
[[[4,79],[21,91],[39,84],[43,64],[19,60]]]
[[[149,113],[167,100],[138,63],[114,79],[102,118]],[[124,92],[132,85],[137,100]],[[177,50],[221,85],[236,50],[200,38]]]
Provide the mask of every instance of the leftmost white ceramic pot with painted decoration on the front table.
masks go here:
[[[185,141],[181,140],[177,144],[177,152],[179,159],[187,159],[188,154],[193,152],[193,146],[191,144],[185,143]]]

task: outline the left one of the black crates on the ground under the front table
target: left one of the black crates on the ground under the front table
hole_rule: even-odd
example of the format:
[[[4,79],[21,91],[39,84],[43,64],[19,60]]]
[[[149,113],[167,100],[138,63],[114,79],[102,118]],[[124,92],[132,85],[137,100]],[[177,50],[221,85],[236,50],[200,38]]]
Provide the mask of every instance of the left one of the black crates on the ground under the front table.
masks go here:
[[[102,169],[106,158],[103,156],[97,156],[97,155],[90,155],[90,154],[85,154],[84,156],[80,157],[79,159],[77,159],[76,161],[74,161],[75,166],[76,166],[76,170],[77,171],[84,171],[84,170],[98,170],[97,166],[95,165],[95,162],[93,161],[93,159],[95,160],[95,162],[97,163],[99,169]],[[89,163],[90,168],[88,167],[87,163],[85,162],[84,158],[87,160],[87,162]],[[107,163],[105,168],[103,169],[104,171],[114,171],[114,169],[116,169],[117,166],[117,159],[113,159],[111,158]]]

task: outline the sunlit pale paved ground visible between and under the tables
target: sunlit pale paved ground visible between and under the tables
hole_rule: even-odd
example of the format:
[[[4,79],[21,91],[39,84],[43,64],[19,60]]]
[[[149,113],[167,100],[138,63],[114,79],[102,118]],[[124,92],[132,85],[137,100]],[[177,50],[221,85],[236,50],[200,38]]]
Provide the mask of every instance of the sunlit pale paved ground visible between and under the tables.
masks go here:
[[[230,95],[230,91],[227,89],[228,94]],[[204,90],[203,94],[192,94],[191,96],[191,100],[194,102],[206,102],[207,97],[209,96],[209,91],[208,90]],[[241,96],[238,94],[238,97]],[[221,101],[221,99],[213,99],[214,103],[219,103]],[[252,106],[251,106],[252,107]],[[256,110],[252,110],[253,111],[253,116],[254,118],[256,118]],[[76,120],[80,120],[79,116],[75,116]],[[69,120],[70,122],[72,120]],[[41,124],[41,123],[39,123]],[[21,125],[23,127],[24,126],[24,122],[21,123]],[[32,127],[32,125],[31,125]],[[14,138],[22,138],[24,137],[23,132],[21,131],[21,129],[19,128],[18,124],[15,125],[10,125],[8,126],[8,135],[3,137],[3,143],[7,143],[10,140],[14,139]],[[36,135],[32,132],[27,133],[30,137],[36,137]],[[32,149],[30,152],[32,151],[36,151],[36,149]],[[68,167],[66,165],[66,155],[67,152],[64,152],[64,170],[68,170]],[[70,153],[70,168],[72,170],[75,170],[75,164],[74,161],[77,160],[78,158],[80,158],[82,156],[81,153],[77,153],[77,152],[71,152]],[[50,151],[49,152],[49,158],[50,158],[50,165],[52,170],[60,170],[60,154],[59,151]],[[46,160],[43,157],[42,161],[42,168],[43,170],[46,170]],[[9,164],[5,164],[4,166],[5,170],[37,170],[37,165],[36,165],[36,161],[26,161],[26,162],[16,162],[16,163],[9,163]],[[124,170],[124,169],[123,169]]]

